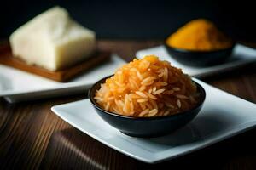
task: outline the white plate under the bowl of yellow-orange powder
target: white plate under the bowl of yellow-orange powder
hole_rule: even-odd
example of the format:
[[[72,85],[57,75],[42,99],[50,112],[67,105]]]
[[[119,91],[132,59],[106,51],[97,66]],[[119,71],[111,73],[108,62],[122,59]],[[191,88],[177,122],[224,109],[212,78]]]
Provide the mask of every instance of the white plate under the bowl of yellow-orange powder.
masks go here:
[[[246,65],[253,61],[256,61],[256,49],[248,48],[241,44],[236,44],[230,56],[230,59],[225,61],[223,64],[209,67],[192,67],[188,65],[183,65],[177,62],[176,59],[173,59],[172,56],[167,53],[164,46],[140,50],[137,52],[136,56],[138,59],[142,59],[145,55],[148,54],[155,54],[159,56],[160,59],[170,61],[172,65],[178,68],[182,68],[185,73],[193,77],[206,77],[208,75],[231,70],[238,66]]]

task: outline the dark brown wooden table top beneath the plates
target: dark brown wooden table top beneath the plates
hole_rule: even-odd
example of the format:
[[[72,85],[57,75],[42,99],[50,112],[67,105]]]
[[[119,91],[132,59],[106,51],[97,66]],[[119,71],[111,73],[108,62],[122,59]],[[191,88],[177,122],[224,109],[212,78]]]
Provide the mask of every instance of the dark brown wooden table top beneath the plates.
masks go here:
[[[98,46],[129,61],[138,49],[160,43],[104,40]],[[256,102],[255,64],[202,80]],[[136,161],[79,132],[50,111],[53,105],[86,97],[84,92],[15,105],[0,99],[0,169],[256,169],[256,129],[172,161],[155,165]]]

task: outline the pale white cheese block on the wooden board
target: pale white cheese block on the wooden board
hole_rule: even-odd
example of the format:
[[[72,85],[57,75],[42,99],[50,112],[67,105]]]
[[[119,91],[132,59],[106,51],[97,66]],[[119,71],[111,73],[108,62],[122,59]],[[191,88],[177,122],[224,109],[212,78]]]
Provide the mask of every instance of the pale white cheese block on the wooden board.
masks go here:
[[[20,26],[9,42],[15,57],[28,65],[57,71],[90,56],[96,35],[71,19],[66,9],[55,7]]]

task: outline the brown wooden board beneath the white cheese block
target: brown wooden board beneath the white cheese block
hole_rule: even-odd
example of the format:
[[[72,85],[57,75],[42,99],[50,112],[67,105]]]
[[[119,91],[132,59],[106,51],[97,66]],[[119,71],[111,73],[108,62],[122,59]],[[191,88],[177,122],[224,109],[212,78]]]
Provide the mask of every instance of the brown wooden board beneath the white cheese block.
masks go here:
[[[85,59],[77,65],[73,65],[67,69],[61,71],[49,71],[37,65],[27,65],[21,59],[17,59],[12,55],[11,48],[8,42],[0,44],[0,64],[20,69],[21,71],[27,71],[32,74],[36,74],[41,77],[46,77],[57,82],[67,82],[73,77],[78,76],[84,71],[88,71],[90,68],[102,64],[102,62],[110,59],[109,52],[97,51],[90,58]]]

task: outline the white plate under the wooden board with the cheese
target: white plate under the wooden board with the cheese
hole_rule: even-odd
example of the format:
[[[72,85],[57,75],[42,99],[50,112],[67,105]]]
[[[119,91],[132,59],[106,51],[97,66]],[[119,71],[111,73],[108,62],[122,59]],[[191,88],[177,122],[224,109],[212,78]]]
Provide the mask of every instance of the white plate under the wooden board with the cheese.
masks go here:
[[[0,97],[4,97],[9,102],[18,102],[85,92],[91,84],[102,77],[113,74],[123,64],[125,64],[125,61],[113,54],[108,62],[84,72],[71,82],[55,82],[26,71],[0,65]]]

